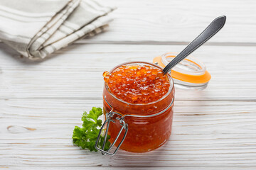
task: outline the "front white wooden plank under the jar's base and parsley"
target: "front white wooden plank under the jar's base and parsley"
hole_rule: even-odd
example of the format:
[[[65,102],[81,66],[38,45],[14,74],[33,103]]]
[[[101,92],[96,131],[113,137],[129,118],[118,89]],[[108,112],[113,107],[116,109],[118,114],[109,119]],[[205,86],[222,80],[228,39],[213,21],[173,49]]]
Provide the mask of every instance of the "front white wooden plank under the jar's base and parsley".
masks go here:
[[[72,145],[82,111],[102,100],[6,99],[0,111],[0,166],[256,166],[256,104],[176,101],[173,132],[163,147],[115,157]]]

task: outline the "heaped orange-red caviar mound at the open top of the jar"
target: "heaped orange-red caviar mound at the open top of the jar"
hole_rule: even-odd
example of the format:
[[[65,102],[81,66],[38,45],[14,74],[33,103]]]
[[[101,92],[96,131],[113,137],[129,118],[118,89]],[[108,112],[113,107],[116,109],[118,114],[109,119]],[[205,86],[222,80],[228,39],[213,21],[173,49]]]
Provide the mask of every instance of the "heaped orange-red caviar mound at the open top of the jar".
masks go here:
[[[112,94],[128,103],[157,101],[169,91],[168,77],[158,67],[129,64],[104,72],[103,77]]]

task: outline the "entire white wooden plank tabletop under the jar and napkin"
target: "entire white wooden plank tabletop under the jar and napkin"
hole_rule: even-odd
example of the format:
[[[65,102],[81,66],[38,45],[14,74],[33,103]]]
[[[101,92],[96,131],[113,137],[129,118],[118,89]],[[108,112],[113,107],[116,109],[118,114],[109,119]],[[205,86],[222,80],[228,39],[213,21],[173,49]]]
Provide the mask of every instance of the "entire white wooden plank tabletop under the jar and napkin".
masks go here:
[[[105,1],[118,7],[107,32],[43,62],[0,43],[0,169],[256,169],[256,1]],[[221,15],[223,30],[193,53],[210,84],[176,89],[166,145],[114,157],[73,146],[82,112],[102,106],[102,72],[179,52]]]

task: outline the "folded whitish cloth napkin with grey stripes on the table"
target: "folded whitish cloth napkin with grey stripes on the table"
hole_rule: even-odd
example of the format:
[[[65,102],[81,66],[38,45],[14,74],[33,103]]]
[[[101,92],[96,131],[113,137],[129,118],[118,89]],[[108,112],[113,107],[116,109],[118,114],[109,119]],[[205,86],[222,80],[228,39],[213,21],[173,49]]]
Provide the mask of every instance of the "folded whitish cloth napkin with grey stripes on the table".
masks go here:
[[[104,30],[110,6],[95,0],[1,0],[0,40],[31,59]]]

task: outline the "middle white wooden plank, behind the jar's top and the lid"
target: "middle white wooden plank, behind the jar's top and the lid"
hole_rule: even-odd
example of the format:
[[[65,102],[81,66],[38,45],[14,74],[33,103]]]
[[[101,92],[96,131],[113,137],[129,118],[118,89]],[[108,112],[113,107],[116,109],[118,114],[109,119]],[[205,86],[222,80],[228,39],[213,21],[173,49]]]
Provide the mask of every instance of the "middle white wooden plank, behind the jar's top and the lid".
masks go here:
[[[102,73],[129,61],[151,62],[183,45],[71,45],[31,62],[0,44],[0,98],[102,98]],[[203,46],[193,56],[212,79],[204,91],[176,89],[176,100],[256,101],[255,47]],[[13,57],[11,57],[13,56]]]

